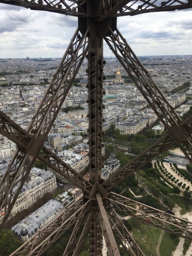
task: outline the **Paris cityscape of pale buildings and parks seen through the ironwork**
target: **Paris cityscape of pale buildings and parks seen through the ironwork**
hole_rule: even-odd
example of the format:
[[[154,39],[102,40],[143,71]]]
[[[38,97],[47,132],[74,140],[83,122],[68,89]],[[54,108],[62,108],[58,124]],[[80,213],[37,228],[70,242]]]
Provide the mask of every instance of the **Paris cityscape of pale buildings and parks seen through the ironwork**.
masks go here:
[[[101,175],[102,179],[108,179],[166,131],[118,60],[115,57],[104,59],[104,163]],[[191,114],[192,56],[142,56],[139,59],[177,114],[181,118]],[[42,100],[59,61],[59,58],[41,57],[0,59],[1,111],[24,130]],[[84,60],[44,146],[89,180],[86,68],[87,61]],[[0,177],[3,177],[16,147],[5,136],[0,137]],[[158,159],[125,179],[125,182],[115,186],[113,191],[177,217],[192,220],[191,173],[192,164],[174,145]],[[38,229],[82,196],[81,189],[37,159],[6,224],[7,230],[18,238],[15,246],[19,247],[35,236]],[[4,209],[0,218],[3,215]],[[125,218],[124,221],[145,255],[191,255],[190,243],[186,239],[156,229],[150,223],[141,222],[138,225],[138,221],[133,218]],[[59,243],[54,246],[54,254],[51,251],[53,248],[50,248],[44,255],[60,255],[58,248]],[[80,255],[89,255],[88,248],[84,245]],[[106,251],[103,241],[103,255],[107,255]]]

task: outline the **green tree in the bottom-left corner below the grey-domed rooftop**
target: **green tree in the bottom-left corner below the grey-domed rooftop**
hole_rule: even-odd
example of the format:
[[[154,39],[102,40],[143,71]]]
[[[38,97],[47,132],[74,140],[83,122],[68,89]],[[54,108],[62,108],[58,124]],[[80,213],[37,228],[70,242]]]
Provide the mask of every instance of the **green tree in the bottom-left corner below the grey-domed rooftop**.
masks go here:
[[[10,229],[4,229],[0,233],[0,255],[8,256],[22,244]]]

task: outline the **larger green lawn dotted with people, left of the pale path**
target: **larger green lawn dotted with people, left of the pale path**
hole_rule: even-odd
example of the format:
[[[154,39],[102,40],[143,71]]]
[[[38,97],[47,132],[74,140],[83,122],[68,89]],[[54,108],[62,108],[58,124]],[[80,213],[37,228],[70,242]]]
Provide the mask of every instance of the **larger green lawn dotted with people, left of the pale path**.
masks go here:
[[[156,246],[161,230],[159,228],[155,228],[151,224],[145,224],[142,221],[133,218],[128,220],[128,223],[132,225],[133,238],[136,240],[143,253],[147,256],[156,256]],[[144,228],[146,230],[144,230]],[[141,231],[138,232],[138,230]]]

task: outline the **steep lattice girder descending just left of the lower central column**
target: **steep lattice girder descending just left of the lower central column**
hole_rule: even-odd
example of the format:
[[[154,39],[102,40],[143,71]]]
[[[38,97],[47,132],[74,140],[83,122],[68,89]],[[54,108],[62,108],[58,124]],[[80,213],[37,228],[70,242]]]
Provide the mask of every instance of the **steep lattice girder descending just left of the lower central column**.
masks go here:
[[[82,218],[79,218],[79,220],[77,220],[72,230],[72,234],[69,238],[67,246],[65,248],[65,251],[63,253],[63,256],[79,255],[79,251],[81,249],[84,238],[86,237],[87,232],[90,229],[90,223],[93,215],[94,215],[94,210],[91,210],[89,214],[84,215],[82,216]],[[84,226],[82,227],[82,225]]]

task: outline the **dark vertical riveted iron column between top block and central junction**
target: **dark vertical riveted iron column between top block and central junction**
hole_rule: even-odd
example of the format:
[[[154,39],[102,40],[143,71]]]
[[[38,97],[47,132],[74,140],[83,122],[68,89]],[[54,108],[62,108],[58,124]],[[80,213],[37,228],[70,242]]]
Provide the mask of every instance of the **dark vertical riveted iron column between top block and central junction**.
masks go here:
[[[95,37],[88,52],[90,181],[100,182],[102,161],[103,38]]]

